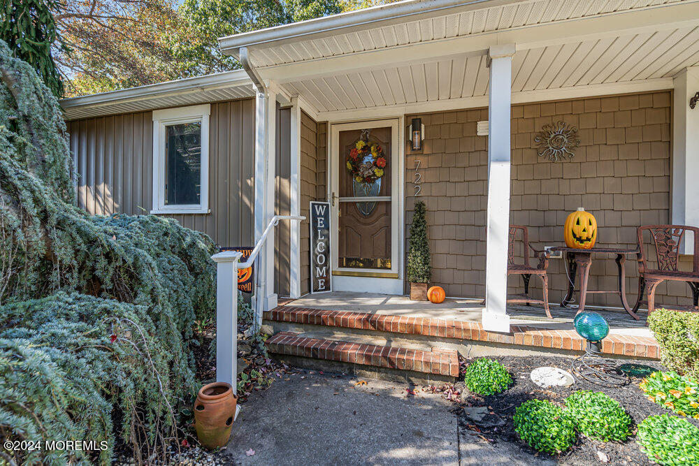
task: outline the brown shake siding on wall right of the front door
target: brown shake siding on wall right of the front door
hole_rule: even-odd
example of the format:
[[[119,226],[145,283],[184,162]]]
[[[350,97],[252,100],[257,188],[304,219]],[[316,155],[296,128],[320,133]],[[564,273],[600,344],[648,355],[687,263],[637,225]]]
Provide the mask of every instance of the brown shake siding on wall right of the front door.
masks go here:
[[[670,102],[670,92],[654,92],[513,105],[510,222],[529,227],[534,247],[562,245],[565,217],[585,207],[597,218],[598,245],[628,249],[636,247],[637,226],[669,223]],[[476,136],[476,122],[488,119],[488,109],[406,115],[405,122],[412,117],[422,119],[426,137],[422,152],[405,148],[406,235],[415,203],[415,160],[420,160],[433,282],[444,286],[447,296],[484,296],[488,152],[487,136]],[[580,147],[574,158],[554,163],[537,156],[534,137],[543,125],[561,120],[577,126]],[[633,305],[637,265],[635,255],[626,259]],[[549,261],[554,303],[568,283],[563,265],[562,259]],[[508,284],[510,293],[522,291],[518,277]],[[614,258],[595,256],[589,289],[616,287]],[[530,291],[540,296],[540,290],[533,277]],[[661,303],[675,304],[686,303],[691,294],[684,283],[663,282],[658,296]],[[588,300],[620,306],[614,295],[590,294]]]

